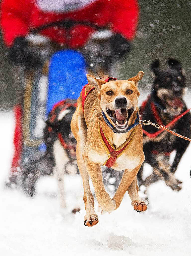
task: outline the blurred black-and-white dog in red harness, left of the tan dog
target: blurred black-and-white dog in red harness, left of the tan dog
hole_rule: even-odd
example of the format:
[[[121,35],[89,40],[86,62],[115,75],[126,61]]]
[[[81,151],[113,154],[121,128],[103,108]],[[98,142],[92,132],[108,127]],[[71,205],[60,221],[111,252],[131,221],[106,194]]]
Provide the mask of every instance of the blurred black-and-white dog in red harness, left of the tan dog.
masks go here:
[[[44,131],[46,155],[51,158],[56,167],[61,208],[66,207],[64,175],[78,172],[75,153],[76,140],[70,129],[75,109],[75,100],[66,99],[58,102],[48,115]]]

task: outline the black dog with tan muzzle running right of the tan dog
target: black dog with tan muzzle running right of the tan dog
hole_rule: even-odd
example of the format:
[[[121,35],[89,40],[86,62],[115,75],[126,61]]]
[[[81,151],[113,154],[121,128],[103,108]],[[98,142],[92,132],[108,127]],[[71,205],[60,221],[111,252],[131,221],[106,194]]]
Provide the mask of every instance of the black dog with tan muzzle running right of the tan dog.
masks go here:
[[[160,62],[156,60],[151,65],[151,71],[155,74],[153,88],[148,99],[143,102],[140,108],[142,120],[150,120],[151,122],[167,125],[177,116],[187,110],[187,106],[183,101],[185,91],[185,75],[182,65],[175,59],[167,61],[168,68],[160,69]],[[181,119],[175,122],[169,129],[190,138],[191,113],[188,112]],[[145,162],[152,166],[152,174],[143,180],[143,165],[137,177],[141,189],[146,193],[148,186],[163,179],[165,183],[173,190],[179,191],[182,182],[174,176],[176,168],[183,156],[189,141],[176,137],[167,131],[160,134],[157,128],[143,125],[144,132],[144,154]],[[156,136],[157,135],[157,136]],[[172,165],[169,164],[169,157],[172,151],[176,151],[176,155]]]

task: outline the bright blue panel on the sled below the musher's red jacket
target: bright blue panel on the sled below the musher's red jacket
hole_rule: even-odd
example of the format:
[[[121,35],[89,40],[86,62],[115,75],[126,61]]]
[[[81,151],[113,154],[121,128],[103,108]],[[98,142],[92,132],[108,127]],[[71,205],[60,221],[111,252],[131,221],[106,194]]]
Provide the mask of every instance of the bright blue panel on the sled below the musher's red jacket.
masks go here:
[[[61,50],[50,59],[47,114],[63,99],[78,99],[87,83],[85,61],[74,50]]]

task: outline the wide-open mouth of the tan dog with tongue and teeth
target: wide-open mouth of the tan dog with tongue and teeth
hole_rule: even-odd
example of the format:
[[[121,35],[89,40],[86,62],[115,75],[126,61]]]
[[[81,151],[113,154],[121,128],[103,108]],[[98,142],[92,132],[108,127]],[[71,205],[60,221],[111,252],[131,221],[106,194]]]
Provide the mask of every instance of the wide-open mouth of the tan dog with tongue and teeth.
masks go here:
[[[108,116],[110,117],[111,121],[115,124],[118,129],[126,129],[128,126],[129,119],[134,111],[134,107],[130,109],[116,109],[110,110],[106,109]]]

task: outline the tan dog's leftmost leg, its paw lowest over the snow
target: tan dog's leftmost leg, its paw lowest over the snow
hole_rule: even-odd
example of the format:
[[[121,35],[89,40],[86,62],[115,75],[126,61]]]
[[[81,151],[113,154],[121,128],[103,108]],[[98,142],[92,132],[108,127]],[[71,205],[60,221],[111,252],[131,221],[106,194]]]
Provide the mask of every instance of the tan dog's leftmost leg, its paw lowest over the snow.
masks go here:
[[[90,190],[89,184],[89,176],[85,167],[84,159],[83,159],[83,151],[86,143],[86,134],[87,129],[85,129],[86,124],[83,116],[78,116],[78,138],[77,138],[77,146],[76,146],[76,157],[78,168],[83,180],[84,187],[84,204],[86,215],[84,217],[84,225],[91,227],[98,223],[98,217],[94,210],[94,197]]]

